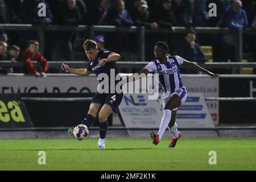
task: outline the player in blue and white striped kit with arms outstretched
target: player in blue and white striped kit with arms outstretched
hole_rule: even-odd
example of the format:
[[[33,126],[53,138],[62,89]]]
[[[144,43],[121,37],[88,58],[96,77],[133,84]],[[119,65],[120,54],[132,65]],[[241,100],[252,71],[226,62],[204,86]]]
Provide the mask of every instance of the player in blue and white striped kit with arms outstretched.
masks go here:
[[[159,131],[157,134],[151,131],[150,135],[153,139],[153,143],[156,145],[162,139],[167,126],[169,126],[171,133],[174,135],[169,147],[175,147],[177,140],[181,138],[181,133],[177,130],[177,124],[175,122],[176,111],[177,107],[183,104],[187,98],[187,91],[181,82],[180,67],[195,69],[215,79],[220,76],[180,56],[167,56],[168,46],[165,42],[156,42],[154,46],[155,60],[148,63],[144,69],[138,72],[139,75],[142,73],[144,73],[142,75],[159,73],[160,85],[164,90],[162,96],[164,111]],[[133,76],[127,78],[127,81],[133,80],[132,77]]]

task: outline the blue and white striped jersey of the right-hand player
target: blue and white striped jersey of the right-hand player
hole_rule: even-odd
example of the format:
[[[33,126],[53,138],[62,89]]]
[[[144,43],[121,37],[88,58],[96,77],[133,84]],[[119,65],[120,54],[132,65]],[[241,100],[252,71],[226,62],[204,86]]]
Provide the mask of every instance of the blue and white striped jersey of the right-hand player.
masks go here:
[[[183,58],[180,56],[170,56],[167,64],[160,64],[158,60],[153,60],[144,67],[151,73],[159,73],[160,85],[164,92],[173,93],[183,87],[180,77],[180,65],[183,64]]]

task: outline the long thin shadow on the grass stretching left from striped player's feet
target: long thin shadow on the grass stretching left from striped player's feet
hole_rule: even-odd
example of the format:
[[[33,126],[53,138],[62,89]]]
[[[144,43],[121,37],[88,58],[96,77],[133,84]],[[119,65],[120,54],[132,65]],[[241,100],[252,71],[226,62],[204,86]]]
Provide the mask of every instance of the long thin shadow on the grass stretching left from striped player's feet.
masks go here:
[[[148,150],[152,149],[151,147],[144,147],[144,148],[105,148],[103,150]],[[36,149],[10,149],[8,151],[54,151],[54,150],[85,150],[85,151],[96,151],[102,150],[98,148],[36,148]]]

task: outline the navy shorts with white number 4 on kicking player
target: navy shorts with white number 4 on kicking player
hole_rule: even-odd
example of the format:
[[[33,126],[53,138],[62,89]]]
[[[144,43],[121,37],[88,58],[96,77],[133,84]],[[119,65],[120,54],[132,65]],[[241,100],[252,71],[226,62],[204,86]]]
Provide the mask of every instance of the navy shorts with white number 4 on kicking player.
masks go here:
[[[90,104],[96,103],[100,105],[107,104],[117,113],[117,107],[121,104],[123,93],[96,93]]]

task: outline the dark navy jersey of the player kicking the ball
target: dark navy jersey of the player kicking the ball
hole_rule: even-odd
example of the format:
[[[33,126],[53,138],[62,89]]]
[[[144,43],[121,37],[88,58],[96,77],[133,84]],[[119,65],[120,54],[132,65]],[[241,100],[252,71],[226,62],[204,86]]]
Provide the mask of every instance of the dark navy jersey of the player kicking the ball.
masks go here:
[[[118,71],[115,67],[115,61],[110,61],[109,63],[106,63],[104,67],[100,67],[100,65],[98,65],[98,63],[101,59],[107,59],[108,56],[110,55],[110,53],[112,53],[112,52],[98,51],[97,59],[89,61],[88,65],[86,67],[86,69],[95,73],[97,78],[98,78],[98,75],[100,75],[100,73],[105,73],[106,75],[108,75],[108,77],[109,77],[109,89],[110,89],[110,79],[112,79],[114,81],[115,85],[119,82],[119,80],[115,81],[115,76],[118,74]],[[110,77],[110,71],[111,70],[112,70],[112,72],[114,72],[114,74],[112,73],[114,75],[114,77],[113,77],[113,75],[112,75],[112,77]],[[101,82],[101,81],[99,80],[99,82]]]

